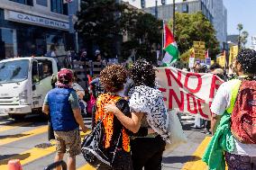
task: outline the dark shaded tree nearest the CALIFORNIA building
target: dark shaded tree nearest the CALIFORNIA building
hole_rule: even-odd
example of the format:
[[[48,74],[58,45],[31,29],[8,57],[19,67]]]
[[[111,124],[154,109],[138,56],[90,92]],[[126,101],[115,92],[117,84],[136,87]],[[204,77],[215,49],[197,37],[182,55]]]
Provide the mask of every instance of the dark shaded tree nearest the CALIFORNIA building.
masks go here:
[[[99,46],[111,57],[115,57],[116,41],[122,40],[121,15],[126,5],[115,0],[82,0],[76,29],[88,46]],[[92,47],[89,47],[92,49]]]

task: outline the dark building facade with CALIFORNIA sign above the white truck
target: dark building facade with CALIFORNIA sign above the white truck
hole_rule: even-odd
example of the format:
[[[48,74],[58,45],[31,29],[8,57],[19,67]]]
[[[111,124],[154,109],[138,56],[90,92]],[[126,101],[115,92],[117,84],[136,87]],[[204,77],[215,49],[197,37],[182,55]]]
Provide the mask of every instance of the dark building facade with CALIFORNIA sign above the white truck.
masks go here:
[[[1,0],[0,59],[42,56],[51,45],[57,55],[65,54],[73,31],[69,21],[78,11],[78,1],[72,3],[70,7],[63,0]]]

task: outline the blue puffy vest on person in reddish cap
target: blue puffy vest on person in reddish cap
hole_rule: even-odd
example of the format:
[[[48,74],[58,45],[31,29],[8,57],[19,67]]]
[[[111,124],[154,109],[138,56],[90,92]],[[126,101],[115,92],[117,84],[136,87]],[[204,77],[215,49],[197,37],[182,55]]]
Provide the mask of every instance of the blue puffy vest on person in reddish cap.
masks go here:
[[[55,131],[75,130],[79,127],[69,103],[72,91],[72,88],[54,88],[48,93],[50,120]]]

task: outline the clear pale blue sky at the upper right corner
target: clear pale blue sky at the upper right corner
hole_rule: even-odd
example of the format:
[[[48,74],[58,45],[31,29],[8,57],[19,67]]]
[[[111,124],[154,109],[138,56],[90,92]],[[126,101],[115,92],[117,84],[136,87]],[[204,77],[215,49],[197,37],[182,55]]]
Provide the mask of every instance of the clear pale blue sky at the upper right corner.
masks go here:
[[[238,34],[237,23],[249,32],[247,46],[251,46],[251,36],[256,36],[256,0],[224,0],[227,9],[227,34]]]

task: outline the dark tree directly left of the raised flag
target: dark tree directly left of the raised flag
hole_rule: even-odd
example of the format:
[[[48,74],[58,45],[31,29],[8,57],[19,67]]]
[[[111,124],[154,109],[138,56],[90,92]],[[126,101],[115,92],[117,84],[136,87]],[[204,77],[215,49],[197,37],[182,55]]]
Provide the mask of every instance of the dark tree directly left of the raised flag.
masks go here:
[[[123,42],[123,60],[129,57],[146,58],[156,63],[156,49],[161,43],[161,21],[150,13],[135,10],[123,13],[122,18],[122,24],[125,25],[123,31],[126,31],[129,37],[129,40]]]

